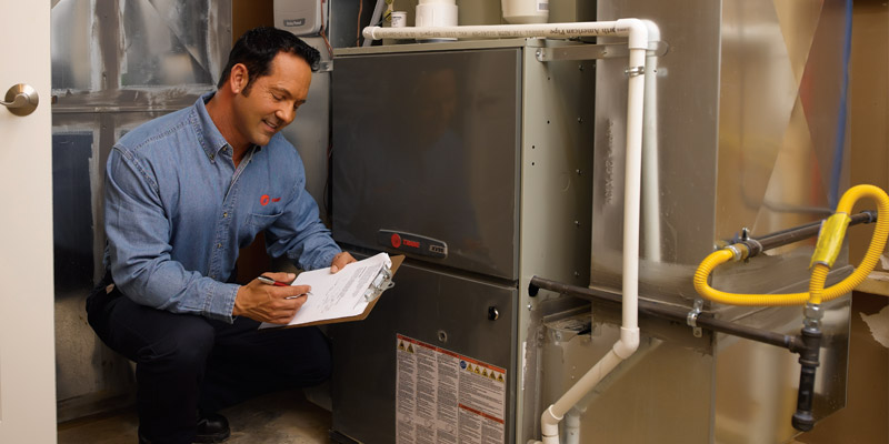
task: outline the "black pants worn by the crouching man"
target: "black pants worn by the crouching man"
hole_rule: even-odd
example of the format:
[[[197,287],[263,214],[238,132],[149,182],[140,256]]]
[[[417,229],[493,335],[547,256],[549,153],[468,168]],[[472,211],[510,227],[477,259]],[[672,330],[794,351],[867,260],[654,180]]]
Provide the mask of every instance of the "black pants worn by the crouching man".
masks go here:
[[[259,331],[247,317],[176,314],[106,292],[104,282],[87,312],[99,337],[136,362],[139,434],[152,443],[191,443],[199,408],[214,413],[330,375],[330,346],[317,327]]]

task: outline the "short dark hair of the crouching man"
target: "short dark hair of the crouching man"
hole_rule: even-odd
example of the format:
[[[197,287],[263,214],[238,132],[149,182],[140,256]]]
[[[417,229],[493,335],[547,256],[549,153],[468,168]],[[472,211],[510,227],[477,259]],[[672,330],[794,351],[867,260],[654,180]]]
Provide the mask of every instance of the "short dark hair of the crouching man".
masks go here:
[[[238,63],[247,67],[249,77],[247,87],[243,89],[244,95],[250,91],[253,80],[269,74],[269,67],[272,59],[279,52],[288,52],[306,60],[312,71],[318,70],[318,61],[321,54],[317,49],[310,47],[293,33],[277,28],[260,27],[253,28],[241,36],[234,47],[229,52],[229,62],[222,71],[217,88],[229,80],[231,68]]]

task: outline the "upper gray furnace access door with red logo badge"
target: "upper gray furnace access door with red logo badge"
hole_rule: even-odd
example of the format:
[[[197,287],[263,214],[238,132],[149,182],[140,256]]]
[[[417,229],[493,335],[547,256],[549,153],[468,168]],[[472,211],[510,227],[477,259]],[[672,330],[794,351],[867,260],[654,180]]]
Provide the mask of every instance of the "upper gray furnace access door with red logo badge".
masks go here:
[[[521,49],[367,54],[333,72],[333,235],[515,280]]]

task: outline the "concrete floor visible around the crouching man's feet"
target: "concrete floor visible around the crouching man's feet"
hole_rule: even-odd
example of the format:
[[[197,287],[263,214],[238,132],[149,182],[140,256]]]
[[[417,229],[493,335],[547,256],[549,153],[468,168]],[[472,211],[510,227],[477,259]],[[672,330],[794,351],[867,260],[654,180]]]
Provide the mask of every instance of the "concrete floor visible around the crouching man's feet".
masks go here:
[[[231,426],[226,444],[328,443],[330,412],[309,402],[301,391],[261,396],[222,412]],[[59,444],[138,442],[134,408],[59,424]]]

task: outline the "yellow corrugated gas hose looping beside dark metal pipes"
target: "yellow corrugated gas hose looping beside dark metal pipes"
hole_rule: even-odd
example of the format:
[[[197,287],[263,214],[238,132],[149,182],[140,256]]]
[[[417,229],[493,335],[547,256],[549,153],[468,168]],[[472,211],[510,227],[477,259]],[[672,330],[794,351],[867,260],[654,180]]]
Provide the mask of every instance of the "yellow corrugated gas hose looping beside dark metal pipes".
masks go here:
[[[833,265],[833,261],[842,246],[842,238],[846,234],[846,228],[849,225],[849,213],[852,211],[852,205],[862,198],[871,198],[877,201],[878,209],[877,226],[873,229],[873,236],[870,239],[867,254],[865,254],[865,259],[852,274],[836,285],[825,289],[828,271]],[[837,212],[821,228],[821,232],[818,235],[818,246],[812,255],[812,275],[808,293],[740,294],[713,289],[707,283],[710,273],[720,264],[737,258],[736,253],[728,249],[710,253],[698,265],[698,270],[695,272],[695,290],[705,299],[730,305],[802,305],[806,302],[820,304],[821,301],[830,301],[851,292],[865,281],[877,265],[880,253],[882,253],[882,249],[886,245],[887,235],[889,235],[889,195],[873,185],[857,185],[842,195],[837,205]]]

